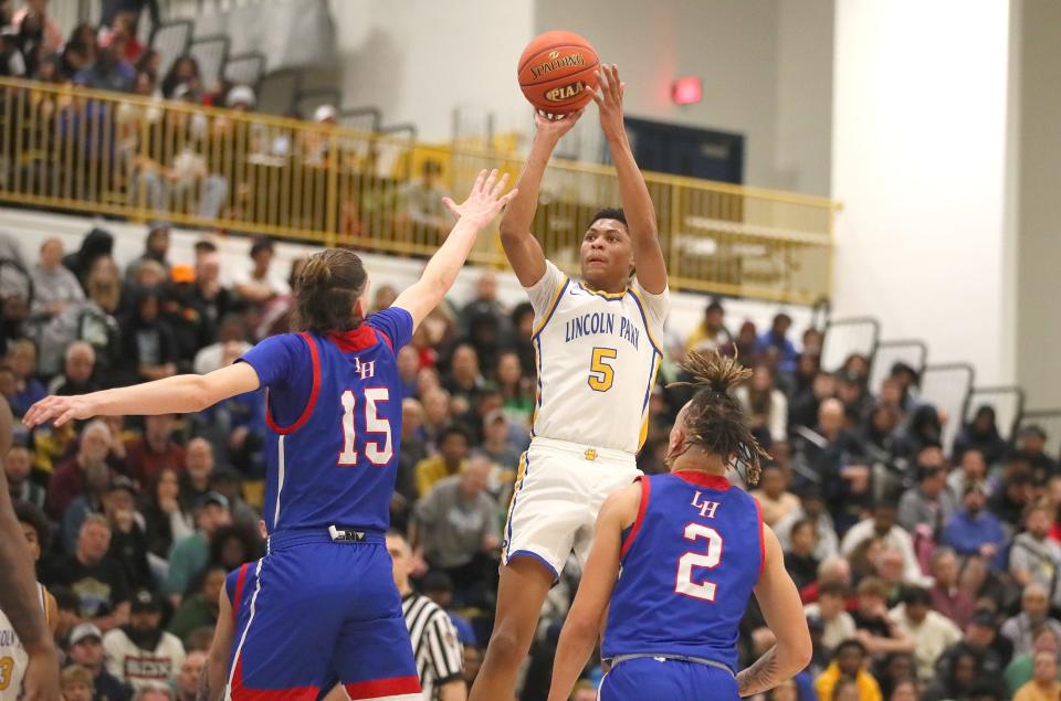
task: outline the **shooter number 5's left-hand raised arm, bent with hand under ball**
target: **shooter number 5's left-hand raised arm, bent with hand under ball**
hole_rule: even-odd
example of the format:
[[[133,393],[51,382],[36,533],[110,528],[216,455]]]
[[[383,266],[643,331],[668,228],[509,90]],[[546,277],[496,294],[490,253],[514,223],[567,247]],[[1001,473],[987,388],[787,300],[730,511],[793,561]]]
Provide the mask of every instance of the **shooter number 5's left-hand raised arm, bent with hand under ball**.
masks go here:
[[[530,223],[534,222],[534,212],[538,206],[538,189],[545,168],[549,164],[553,149],[560,137],[571,130],[571,127],[582,116],[582,110],[549,119],[542,114],[534,115],[534,141],[530,144],[530,153],[523,164],[516,189],[519,194],[513,199],[505,215],[501,217],[501,244],[508,256],[513,272],[519,278],[519,284],[530,287],[545,275],[545,254],[542,244],[530,233]]]

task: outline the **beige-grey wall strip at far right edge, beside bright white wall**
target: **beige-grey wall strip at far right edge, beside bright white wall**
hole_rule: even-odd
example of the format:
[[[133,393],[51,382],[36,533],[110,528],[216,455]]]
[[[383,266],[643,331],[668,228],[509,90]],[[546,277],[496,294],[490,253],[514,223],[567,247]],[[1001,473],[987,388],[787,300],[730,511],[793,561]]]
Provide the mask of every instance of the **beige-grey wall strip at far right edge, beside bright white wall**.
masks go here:
[[[1061,406],[1061,3],[1020,6],[1017,379],[1042,408]]]

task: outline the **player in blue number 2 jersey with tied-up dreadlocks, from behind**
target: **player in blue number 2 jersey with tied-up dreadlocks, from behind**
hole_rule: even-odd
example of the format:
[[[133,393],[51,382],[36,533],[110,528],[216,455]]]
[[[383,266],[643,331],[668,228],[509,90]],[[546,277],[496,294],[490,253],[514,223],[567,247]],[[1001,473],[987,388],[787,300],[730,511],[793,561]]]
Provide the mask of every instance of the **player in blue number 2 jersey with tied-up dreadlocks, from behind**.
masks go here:
[[[810,661],[780,543],[758,502],[726,478],[739,460],[755,484],[766,457],[729,395],[752,372],[717,353],[693,353],[686,369],[701,389],[671,431],[671,472],[641,477],[605,502],[560,634],[549,701],[570,694],[606,613],[601,656],[611,670],[601,701],[737,699]],[[777,644],[737,673],[737,629],[753,593]]]

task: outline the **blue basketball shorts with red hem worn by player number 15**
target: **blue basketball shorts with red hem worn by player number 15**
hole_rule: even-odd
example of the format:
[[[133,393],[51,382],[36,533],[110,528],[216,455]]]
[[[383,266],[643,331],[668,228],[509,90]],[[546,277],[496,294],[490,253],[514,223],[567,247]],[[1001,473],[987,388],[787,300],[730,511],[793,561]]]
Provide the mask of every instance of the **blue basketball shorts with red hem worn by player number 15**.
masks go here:
[[[238,586],[229,690],[235,701],[420,701],[420,682],[382,533],[333,542],[324,531],[270,538]]]

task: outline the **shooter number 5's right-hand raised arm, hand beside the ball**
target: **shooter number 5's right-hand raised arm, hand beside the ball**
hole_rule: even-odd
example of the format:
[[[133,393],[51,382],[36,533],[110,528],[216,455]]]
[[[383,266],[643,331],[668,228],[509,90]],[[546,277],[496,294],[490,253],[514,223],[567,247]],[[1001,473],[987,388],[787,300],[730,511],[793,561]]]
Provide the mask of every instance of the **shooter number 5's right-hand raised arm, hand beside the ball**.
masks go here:
[[[666,263],[660,248],[655,208],[652,206],[644,177],[633,159],[622,123],[622,93],[626,85],[619,79],[619,68],[614,64],[601,65],[598,76],[600,92],[593,94],[593,102],[600,111],[600,128],[608,140],[611,160],[619,177],[619,195],[627,215],[638,282],[648,293],[659,295],[666,289]]]

